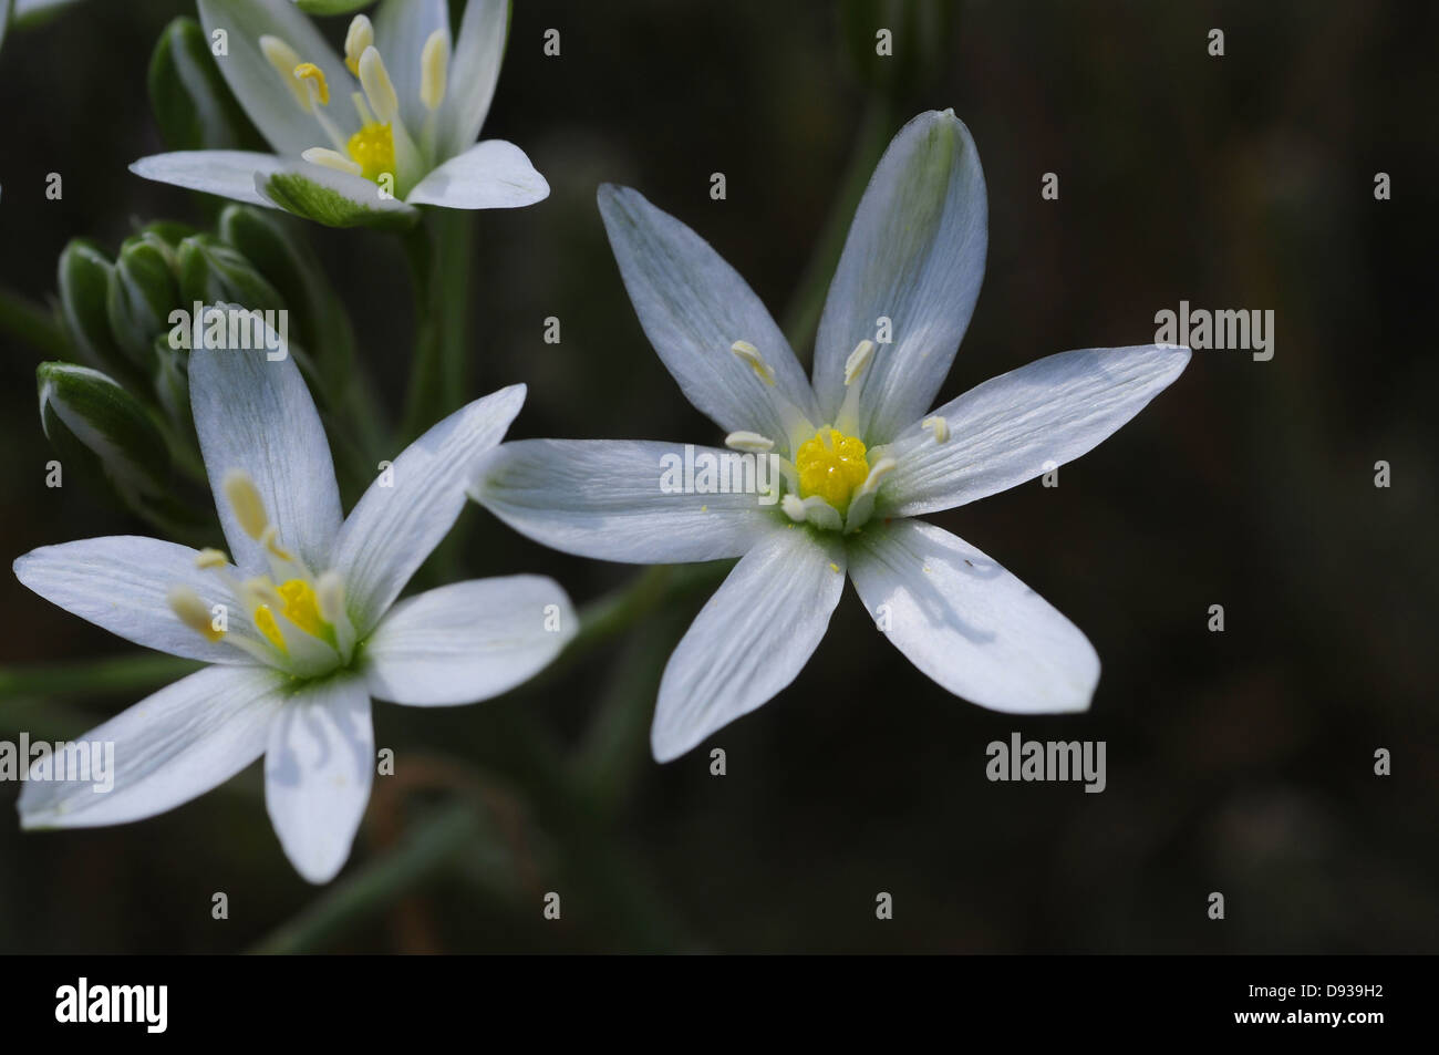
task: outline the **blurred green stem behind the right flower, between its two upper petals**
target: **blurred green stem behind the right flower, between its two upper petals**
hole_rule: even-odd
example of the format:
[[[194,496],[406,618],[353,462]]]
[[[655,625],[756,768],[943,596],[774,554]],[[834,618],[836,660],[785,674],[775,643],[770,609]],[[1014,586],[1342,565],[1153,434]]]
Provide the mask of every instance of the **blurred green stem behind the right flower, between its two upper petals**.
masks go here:
[[[814,330],[819,327],[820,312],[825,309],[825,295],[829,292],[829,282],[835,276],[839,265],[839,255],[845,249],[845,237],[849,235],[849,223],[855,219],[855,209],[859,199],[869,186],[869,176],[875,171],[879,157],[885,153],[891,137],[895,134],[894,107],[882,95],[873,95],[865,107],[859,121],[859,134],[855,138],[853,153],[849,155],[849,166],[839,183],[839,193],[830,206],[829,217],[810,252],[809,265],[800,278],[799,286],[790,296],[790,304],[784,309],[781,328],[790,347],[800,358],[804,358],[804,348],[810,347]]]

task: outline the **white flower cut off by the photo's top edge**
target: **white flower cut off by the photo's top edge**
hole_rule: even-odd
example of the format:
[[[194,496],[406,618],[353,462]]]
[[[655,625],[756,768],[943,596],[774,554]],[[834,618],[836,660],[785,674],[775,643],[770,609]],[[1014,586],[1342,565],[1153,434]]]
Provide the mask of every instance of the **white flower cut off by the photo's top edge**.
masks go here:
[[[220,72],[275,148],[187,150],[131,171],[334,226],[407,223],[414,206],[512,209],[550,186],[524,151],[475,142],[499,78],[508,0],[469,0],[450,40],[446,0],[384,0],[335,55],[291,0],[199,0],[227,53]]]

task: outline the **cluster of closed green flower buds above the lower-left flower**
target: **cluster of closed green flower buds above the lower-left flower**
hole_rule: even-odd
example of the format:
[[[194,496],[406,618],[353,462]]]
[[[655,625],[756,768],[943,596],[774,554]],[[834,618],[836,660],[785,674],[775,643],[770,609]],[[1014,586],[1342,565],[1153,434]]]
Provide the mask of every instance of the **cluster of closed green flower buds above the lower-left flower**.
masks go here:
[[[214,232],[147,225],[114,258],[72,240],[59,259],[59,307],[76,363],[37,370],[50,443],[130,508],[163,514],[173,466],[199,465],[186,381],[197,305],[283,311],[291,353],[304,356],[321,332],[348,332],[322,275],[285,217],[240,204]]]

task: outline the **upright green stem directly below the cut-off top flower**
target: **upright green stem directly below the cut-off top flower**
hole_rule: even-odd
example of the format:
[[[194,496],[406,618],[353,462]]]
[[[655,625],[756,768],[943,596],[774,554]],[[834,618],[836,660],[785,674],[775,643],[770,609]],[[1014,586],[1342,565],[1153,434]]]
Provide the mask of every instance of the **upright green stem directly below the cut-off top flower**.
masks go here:
[[[406,443],[463,404],[473,354],[468,331],[475,220],[455,209],[426,220],[401,237],[414,279],[414,363],[400,426]]]

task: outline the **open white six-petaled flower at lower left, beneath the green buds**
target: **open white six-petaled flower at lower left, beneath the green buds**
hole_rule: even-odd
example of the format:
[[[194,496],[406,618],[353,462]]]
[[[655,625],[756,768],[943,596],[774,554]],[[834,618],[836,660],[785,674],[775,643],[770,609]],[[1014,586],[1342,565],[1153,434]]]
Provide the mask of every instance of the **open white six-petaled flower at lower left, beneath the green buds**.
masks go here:
[[[265,345],[273,347],[273,345]],[[465,505],[473,459],[504,436],[524,386],[455,412],[351,511],[294,358],[196,348],[200,450],[235,563],[134,535],[46,545],[27,587],[112,633],[201,659],[201,671],[86,734],[115,744],[115,786],[26,783],[24,828],[163,813],[262,754],[265,799],[295,868],[325,882],[350,853],[376,767],[370,698],[416,707],[498,695],[545,666],[576,617],[550,579],[442,586],[394,603]]]

